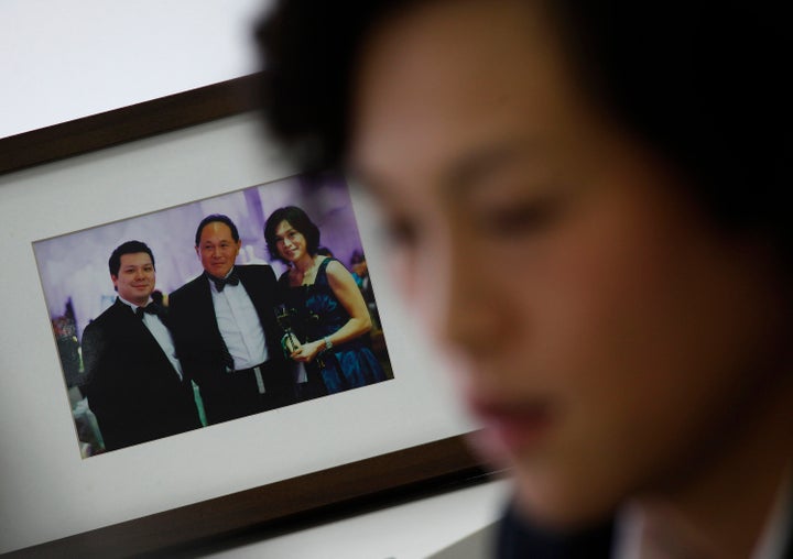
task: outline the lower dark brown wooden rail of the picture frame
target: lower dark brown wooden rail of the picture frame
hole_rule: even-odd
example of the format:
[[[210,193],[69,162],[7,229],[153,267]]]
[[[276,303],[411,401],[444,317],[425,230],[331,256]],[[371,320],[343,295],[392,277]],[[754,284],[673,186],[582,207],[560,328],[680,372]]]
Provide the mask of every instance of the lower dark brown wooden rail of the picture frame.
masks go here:
[[[222,541],[268,537],[405,498],[490,479],[463,437],[191,504],[12,551],[8,557],[191,556]]]

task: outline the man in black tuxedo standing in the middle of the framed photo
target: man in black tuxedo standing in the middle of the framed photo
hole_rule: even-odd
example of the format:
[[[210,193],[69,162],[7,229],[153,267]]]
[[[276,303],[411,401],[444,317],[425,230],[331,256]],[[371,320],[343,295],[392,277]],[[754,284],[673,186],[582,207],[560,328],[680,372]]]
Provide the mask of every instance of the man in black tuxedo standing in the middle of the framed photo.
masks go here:
[[[204,218],[195,234],[204,273],[169,297],[176,350],[210,425],[294,403],[275,274],[267,264],[236,265],[241,244],[227,216]]]

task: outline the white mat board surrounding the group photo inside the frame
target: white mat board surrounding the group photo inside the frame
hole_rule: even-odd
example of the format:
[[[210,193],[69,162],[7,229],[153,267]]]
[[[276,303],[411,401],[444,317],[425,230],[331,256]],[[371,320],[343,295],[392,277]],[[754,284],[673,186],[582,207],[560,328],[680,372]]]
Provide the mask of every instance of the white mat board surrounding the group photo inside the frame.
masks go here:
[[[32,243],[291,175],[261,140],[258,120],[238,114],[0,175],[14,263],[0,266],[0,308],[14,317],[0,321],[0,555],[474,427],[397,296],[376,208],[354,196],[392,381],[80,458]]]

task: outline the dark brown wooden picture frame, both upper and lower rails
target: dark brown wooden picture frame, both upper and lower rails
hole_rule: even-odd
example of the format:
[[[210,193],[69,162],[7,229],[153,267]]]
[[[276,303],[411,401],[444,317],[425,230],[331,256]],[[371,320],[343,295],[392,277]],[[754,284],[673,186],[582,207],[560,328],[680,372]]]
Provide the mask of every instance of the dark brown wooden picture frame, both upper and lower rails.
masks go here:
[[[0,139],[0,178],[12,172],[156,136],[256,109],[256,76],[215,84]],[[0,188],[2,186],[0,185]],[[455,486],[489,473],[457,435],[232,492],[13,551],[13,556],[176,553],[268,527],[290,529],[327,511]]]

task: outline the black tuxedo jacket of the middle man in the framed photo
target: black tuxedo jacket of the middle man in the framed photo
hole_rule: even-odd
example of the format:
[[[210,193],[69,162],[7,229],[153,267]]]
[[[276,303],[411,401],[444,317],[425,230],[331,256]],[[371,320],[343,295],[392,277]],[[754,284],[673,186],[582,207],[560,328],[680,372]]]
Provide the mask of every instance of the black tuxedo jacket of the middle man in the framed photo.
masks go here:
[[[224,342],[207,277],[199,275],[169,297],[176,352],[186,374],[200,388],[210,424],[293,402],[293,374],[281,349],[283,331],[275,319],[275,274],[268,265],[238,265],[235,270],[264,331],[270,363],[263,373],[267,398],[259,398],[252,376],[239,379],[239,374],[226,371]],[[253,396],[257,403],[251,403]]]

